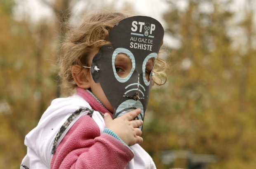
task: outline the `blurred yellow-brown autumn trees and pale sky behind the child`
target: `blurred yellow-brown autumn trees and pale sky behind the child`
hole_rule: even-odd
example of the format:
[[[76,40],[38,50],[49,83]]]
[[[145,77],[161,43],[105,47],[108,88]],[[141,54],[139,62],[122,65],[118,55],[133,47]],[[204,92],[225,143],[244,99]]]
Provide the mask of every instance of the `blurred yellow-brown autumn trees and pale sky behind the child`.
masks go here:
[[[0,0],[0,168],[19,168],[25,135],[61,96],[63,23],[103,8],[164,26],[168,81],[152,89],[141,144],[157,168],[254,169],[255,0]]]

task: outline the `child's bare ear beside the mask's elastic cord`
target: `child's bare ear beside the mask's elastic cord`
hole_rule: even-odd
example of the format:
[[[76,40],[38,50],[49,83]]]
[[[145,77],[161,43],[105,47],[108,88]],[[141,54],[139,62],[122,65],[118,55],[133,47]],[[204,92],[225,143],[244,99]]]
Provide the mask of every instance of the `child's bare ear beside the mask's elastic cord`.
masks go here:
[[[72,66],[71,73],[78,87],[83,89],[89,89],[91,87],[89,82],[89,69],[84,69],[79,65],[74,65]]]

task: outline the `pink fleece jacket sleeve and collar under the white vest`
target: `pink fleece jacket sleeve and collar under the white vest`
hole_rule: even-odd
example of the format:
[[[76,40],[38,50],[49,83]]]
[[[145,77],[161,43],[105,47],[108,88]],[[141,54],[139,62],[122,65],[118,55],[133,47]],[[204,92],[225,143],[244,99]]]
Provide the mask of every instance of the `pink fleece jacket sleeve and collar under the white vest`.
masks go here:
[[[91,102],[92,108],[98,107],[98,111],[108,112],[84,91],[78,88],[78,94]],[[94,107],[92,102],[97,106]],[[51,169],[123,169],[133,157],[133,152],[127,146],[109,134],[101,134],[96,122],[85,115],[75,122],[57,146]]]

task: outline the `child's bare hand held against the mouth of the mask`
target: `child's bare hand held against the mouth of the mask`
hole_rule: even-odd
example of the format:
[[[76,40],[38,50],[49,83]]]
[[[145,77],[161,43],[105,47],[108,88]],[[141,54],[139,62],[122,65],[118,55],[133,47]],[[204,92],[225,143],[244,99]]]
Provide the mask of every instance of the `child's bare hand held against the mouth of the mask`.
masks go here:
[[[112,119],[108,114],[104,114],[104,120],[106,128],[112,130],[119,138],[124,141],[128,146],[132,146],[136,143],[142,143],[143,138],[140,137],[142,134],[141,129],[137,128],[143,124],[142,120],[133,120],[137,115],[141,113],[141,109],[137,108],[125,113],[121,117]]]

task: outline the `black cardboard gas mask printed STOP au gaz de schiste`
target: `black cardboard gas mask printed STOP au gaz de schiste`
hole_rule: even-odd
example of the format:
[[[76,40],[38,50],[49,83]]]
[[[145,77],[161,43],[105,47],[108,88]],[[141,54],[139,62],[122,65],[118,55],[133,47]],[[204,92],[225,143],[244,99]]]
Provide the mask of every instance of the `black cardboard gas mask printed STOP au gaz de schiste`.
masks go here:
[[[92,77],[113,106],[114,118],[141,108],[142,113],[135,119],[144,120],[152,69],[163,36],[164,29],[157,20],[148,16],[129,17],[110,30],[108,41],[112,46],[101,47],[94,56]]]

